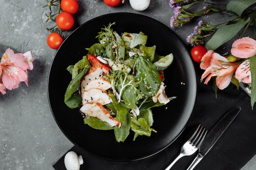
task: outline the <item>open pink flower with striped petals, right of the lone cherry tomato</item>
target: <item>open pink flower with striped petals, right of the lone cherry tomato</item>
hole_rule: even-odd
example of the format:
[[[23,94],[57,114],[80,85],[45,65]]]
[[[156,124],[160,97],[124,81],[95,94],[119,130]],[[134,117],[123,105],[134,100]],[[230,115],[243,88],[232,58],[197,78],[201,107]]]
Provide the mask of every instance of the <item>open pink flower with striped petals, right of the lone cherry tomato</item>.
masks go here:
[[[239,64],[238,62],[229,62],[225,57],[214,51],[208,51],[202,57],[202,63],[200,64],[202,69],[206,68],[202,74],[201,81],[207,77],[204,81],[204,84],[207,84],[211,77],[216,76],[216,85],[222,90],[230,84]]]

